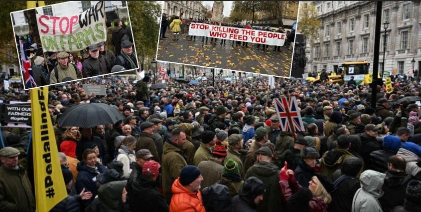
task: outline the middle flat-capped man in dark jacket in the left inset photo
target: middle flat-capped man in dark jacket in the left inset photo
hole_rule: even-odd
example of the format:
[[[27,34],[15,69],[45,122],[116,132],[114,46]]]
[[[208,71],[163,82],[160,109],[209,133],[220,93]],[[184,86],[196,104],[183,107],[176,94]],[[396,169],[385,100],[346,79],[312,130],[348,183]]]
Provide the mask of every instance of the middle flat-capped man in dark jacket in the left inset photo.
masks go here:
[[[83,77],[98,76],[110,73],[107,68],[105,57],[99,53],[98,45],[89,46],[89,57],[83,61]]]

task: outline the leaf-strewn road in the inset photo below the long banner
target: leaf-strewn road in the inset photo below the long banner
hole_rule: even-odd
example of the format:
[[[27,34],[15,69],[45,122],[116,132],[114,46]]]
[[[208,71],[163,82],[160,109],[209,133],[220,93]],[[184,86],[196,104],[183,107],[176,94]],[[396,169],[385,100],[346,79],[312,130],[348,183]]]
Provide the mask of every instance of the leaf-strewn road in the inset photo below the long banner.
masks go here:
[[[232,40],[220,45],[220,39],[211,43],[208,38],[206,43],[201,42],[200,36],[189,41],[185,35],[179,35],[179,40],[174,41],[168,31],[166,36],[159,40],[157,60],[289,77],[292,51],[285,47],[274,51],[274,46],[269,46],[264,51],[256,43],[249,43],[246,48],[232,45]]]

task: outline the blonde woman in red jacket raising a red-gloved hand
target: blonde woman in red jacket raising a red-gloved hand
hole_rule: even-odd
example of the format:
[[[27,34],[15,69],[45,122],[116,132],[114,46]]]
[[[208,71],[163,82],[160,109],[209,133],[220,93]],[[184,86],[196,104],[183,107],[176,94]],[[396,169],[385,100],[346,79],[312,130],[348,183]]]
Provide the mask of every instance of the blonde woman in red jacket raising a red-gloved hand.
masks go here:
[[[329,194],[333,184],[326,175],[316,174],[308,182],[307,188],[301,188],[294,178],[292,170],[282,168],[280,172],[280,190],[283,201],[287,203],[288,211],[293,212],[326,212],[327,205],[332,201]]]

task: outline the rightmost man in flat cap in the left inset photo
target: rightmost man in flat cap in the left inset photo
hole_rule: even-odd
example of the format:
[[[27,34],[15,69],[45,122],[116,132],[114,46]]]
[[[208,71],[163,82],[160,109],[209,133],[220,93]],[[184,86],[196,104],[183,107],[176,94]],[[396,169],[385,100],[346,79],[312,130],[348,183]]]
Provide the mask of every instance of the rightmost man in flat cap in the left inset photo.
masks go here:
[[[113,66],[121,65],[126,70],[138,68],[138,60],[136,54],[133,52],[133,43],[125,40],[121,43],[122,50],[117,52],[117,58],[114,60]]]

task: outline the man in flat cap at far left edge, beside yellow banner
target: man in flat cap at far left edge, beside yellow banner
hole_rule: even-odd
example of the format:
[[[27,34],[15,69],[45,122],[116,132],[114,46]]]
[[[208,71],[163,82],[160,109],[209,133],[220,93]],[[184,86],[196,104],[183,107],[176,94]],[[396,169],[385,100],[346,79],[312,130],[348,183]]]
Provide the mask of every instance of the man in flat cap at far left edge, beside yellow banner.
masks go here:
[[[35,201],[25,169],[18,164],[19,150],[0,150],[0,211],[34,212]]]

